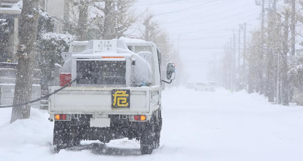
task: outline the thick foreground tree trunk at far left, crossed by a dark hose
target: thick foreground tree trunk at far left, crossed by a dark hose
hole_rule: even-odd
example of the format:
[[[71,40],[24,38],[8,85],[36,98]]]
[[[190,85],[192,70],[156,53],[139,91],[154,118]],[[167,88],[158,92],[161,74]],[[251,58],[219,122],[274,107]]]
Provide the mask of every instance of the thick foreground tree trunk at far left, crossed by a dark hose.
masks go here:
[[[17,51],[18,66],[13,104],[27,102],[32,94],[33,68],[38,26],[38,0],[23,0],[20,17],[20,37]],[[11,123],[30,117],[30,104],[12,110]]]

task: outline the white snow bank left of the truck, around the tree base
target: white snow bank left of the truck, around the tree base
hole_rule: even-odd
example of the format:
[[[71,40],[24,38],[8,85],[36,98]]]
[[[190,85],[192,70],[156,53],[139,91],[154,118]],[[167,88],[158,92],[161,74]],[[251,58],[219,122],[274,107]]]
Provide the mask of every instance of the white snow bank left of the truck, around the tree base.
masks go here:
[[[47,114],[31,109],[31,118],[9,124],[11,109],[1,109],[0,155],[2,160],[41,160],[50,154],[52,123]],[[33,153],[35,153],[33,155]]]

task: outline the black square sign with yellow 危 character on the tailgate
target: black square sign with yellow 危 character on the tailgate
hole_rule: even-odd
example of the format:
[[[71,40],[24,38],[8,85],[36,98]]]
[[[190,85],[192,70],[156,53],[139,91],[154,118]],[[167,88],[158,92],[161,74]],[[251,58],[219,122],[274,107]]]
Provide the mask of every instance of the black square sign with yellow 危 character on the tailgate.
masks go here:
[[[113,89],[112,90],[112,108],[129,108],[130,90]]]

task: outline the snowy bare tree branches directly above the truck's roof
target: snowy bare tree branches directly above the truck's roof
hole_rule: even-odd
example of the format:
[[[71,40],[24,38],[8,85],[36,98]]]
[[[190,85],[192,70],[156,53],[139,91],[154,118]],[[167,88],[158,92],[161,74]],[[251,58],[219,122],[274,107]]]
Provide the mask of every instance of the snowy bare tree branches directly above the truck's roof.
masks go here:
[[[78,40],[124,36],[125,31],[137,20],[136,14],[131,10],[135,2],[136,0],[69,0],[70,18],[77,22],[75,34]]]

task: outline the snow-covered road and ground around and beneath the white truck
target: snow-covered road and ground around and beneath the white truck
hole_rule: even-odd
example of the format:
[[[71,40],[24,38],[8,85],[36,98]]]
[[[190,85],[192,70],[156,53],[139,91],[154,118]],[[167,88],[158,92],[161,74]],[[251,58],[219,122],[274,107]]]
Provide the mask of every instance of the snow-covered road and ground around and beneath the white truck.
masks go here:
[[[140,155],[139,142],[82,141],[86,150],[51,151],[53,123],[32,109],[9,124],[0,110],[0,160],[303,160],[303,108],[270,104],[263,96],[223,89],[163,92],[161,147]]]

